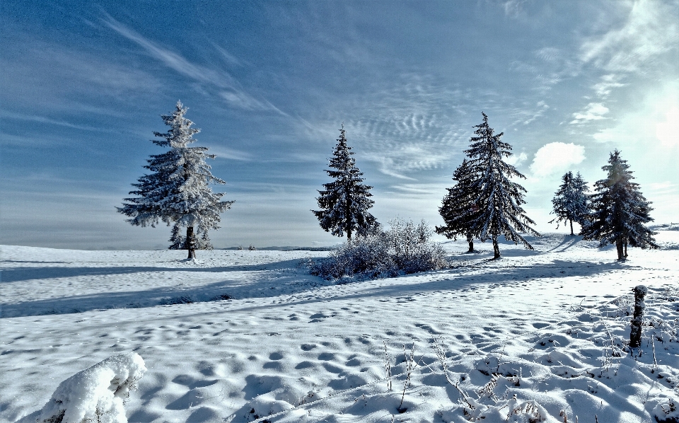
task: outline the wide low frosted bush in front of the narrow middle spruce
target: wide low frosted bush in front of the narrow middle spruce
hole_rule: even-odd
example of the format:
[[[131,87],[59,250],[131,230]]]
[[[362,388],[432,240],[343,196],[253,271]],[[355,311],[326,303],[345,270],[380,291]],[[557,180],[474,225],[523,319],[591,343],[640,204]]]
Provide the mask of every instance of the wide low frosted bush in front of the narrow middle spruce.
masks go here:
[[[377,229],[340,245],[325,260],[311,262],[311,274],[325,279],[374,279],[441,269],[448,265],[441,245],[431,243],[424,221],[394,219],[390,230]]]

